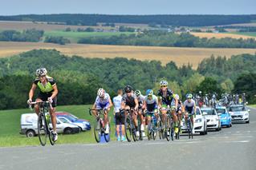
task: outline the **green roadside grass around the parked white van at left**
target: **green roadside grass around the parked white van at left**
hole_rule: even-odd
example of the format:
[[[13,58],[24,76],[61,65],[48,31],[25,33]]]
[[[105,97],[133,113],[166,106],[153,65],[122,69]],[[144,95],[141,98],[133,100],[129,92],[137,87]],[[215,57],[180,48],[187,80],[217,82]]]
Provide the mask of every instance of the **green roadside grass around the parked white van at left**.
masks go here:
[[[68,105],[58,106],[57,111],[65,111],[74,114],[76,117],[87,119],[93,126],[94,118],[89,115],[87,109],[91,105]],[[27,146],[27,145],[40,145],[37,136],[27,138],[25,135],[20,135],[20,117],[22,113],[33,113],[30,109],[15,109],[15,110],[2,110],[0,111],[0,147],[10,146]],[[113,122],[112,112],[111,127],[112,127],[112,140],[116,140],[115,125]],[[80,132],[72,135],[59,135],[57,144],[87,144],[95,143],[93,136],[93,128],[87,132]],[[47,144],[50,142],[47,141]]]

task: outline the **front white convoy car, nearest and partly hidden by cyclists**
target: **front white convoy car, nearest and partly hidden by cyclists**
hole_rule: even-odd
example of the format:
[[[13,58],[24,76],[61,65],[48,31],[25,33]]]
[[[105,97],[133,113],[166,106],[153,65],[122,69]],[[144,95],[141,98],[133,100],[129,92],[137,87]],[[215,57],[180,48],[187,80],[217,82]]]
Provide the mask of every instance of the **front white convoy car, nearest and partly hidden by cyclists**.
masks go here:
[[[181,126],[182,132],[185,132],[184,125],[185,125],[185,119],[182,120],[182,126]],[[205,116],[202,115],[201,109],[198,106],[197,106],[196,117],[194,117],[193,129],[194,129],[194,132],[199,132],[200,135],[207,134],[206,119],[205,119]]]

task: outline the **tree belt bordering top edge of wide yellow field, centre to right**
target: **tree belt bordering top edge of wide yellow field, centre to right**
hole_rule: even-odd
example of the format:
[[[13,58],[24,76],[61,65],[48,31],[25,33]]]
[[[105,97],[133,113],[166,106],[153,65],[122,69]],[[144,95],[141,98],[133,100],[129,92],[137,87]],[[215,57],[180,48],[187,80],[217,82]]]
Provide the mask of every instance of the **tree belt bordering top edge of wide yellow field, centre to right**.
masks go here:
[[[165,31],[144,31],[143,34],[120,34],[111,37],[80,38],[81,44],[144,45],[207,48],[256,48],[254,38],[198,38],[189,33],[175,34]]]

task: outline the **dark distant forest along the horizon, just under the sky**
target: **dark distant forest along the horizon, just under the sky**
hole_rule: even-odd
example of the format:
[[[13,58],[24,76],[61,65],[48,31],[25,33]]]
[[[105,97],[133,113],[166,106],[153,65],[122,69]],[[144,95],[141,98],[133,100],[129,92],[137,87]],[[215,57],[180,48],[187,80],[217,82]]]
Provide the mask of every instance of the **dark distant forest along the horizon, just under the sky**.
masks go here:
[[[66,23],[76,26],[96,26],[97,23],[139,23],[168,26],[220,26],[247,23],[256,15],[107,15],[107,14],[26,14],[0,16],[2,21],[37,21]]]

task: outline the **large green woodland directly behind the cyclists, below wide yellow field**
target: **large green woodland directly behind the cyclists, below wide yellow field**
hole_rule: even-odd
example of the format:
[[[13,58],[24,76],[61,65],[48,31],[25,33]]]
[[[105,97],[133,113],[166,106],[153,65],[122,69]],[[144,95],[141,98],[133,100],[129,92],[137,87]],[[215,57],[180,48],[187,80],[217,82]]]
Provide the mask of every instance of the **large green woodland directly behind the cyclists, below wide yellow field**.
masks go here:
[[[107,89],[112,97],[117,89],[125,85],[132,85],[142,93],[146,89],[156,92],[163,78],[181,97],[199,90],[238,92],[247,93],[251,103],[256,102],[254,65],[256,54],[243,54],[230,59],[211,57],[193,70],[192,65],[177,67],[173,61],[163,66],[160,61],[67,57],[55,49],[31,50],[0,59],[0,109],[26,107],[35,70],[39,67],[46,67],[49,75],[57,81],[59,105],[91,104],[100,87]]]

